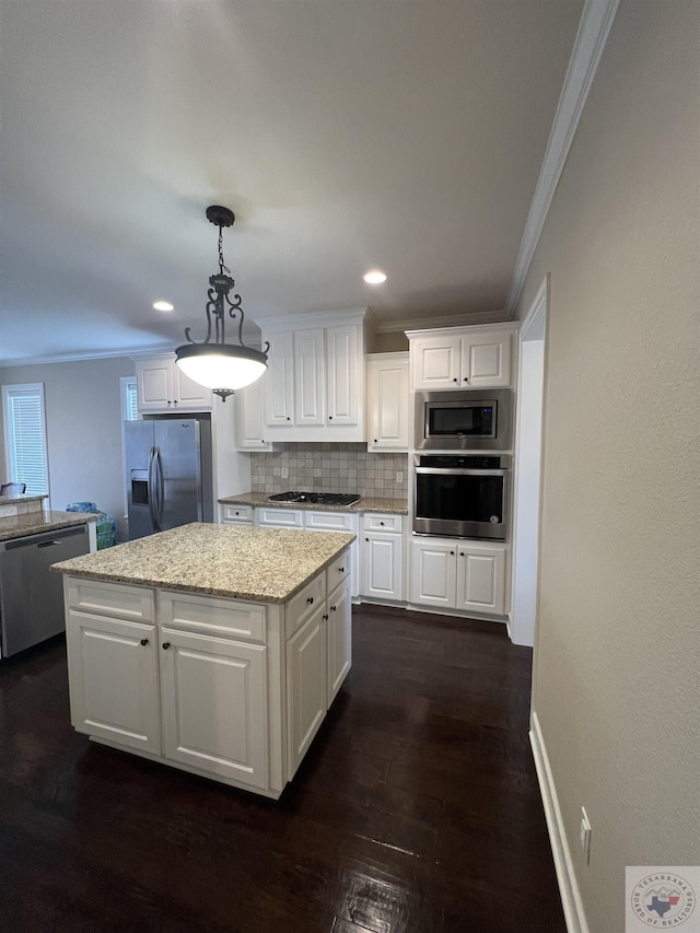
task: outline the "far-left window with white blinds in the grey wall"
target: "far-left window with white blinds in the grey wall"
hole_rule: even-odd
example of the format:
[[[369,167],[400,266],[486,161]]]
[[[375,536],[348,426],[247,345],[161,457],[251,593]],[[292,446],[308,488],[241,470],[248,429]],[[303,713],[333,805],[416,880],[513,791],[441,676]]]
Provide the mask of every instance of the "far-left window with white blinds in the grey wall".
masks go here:
[[[2,386],[8,480],[28,495],[48,494],[44,383]]]

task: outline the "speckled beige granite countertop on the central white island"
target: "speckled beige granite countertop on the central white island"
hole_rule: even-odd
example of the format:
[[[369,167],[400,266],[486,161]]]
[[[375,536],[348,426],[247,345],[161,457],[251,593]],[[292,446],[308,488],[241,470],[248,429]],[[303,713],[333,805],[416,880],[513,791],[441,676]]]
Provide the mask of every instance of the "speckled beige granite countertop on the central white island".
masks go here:
[[[255,603],[285,603],[354,535],[194,522],[51,570],[140,586],[184,590]]]

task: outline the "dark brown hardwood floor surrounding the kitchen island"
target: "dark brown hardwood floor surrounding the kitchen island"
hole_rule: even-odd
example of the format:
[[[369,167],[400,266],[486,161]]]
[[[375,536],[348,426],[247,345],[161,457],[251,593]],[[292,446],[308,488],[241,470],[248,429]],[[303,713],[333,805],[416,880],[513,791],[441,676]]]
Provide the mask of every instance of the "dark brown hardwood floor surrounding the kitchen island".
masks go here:
[[[354,613],[354,661],[275,803],[90,743],[65,643],[0,664],[0,930],[565,933],[501,626]]]

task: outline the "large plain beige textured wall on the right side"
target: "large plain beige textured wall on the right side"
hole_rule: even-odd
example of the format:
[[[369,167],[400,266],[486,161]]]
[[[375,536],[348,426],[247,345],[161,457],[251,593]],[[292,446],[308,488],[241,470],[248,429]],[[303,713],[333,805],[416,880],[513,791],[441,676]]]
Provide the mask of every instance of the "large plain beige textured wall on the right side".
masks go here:
[[[699,16],[620,4],[518,307],[551,272],[534,709],[592,933],[700,862]]]

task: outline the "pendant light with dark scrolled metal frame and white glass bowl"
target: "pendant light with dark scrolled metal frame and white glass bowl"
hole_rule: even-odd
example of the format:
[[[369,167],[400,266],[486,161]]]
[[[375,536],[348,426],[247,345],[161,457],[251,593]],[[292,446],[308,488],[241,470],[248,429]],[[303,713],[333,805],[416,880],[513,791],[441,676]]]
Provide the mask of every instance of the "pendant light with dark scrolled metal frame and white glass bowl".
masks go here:
[[[189,342],[183,343],[175,350],[175,362],[190,380],[210,388],[214,395],[225,401],[235,389],[250,385],[260,378],[267,369],[267,351],[270,345],[266,343],[262,350],[254,350],[253,347],[245,346],[241,295],[234,294],[234,301],[229,298],[229,292],[235,282],[231,277],[231,269],[223,261],[223,228],[233,226],[235,220],[233,211],[212,205],[207,208],[207,220],[219,228],[219,271],[209,278],[211,288],[208,291],[209,301],[205,308],[207,336],[201,343],[197,343],[189,336],[190,328],[186,327],[185,337]],[[236,314],[238,315],[238,345],[226,343],[224,339],[226,312],[234,320]],[[211,339],[212,315],[213,340]]]

